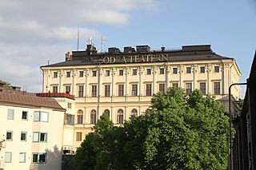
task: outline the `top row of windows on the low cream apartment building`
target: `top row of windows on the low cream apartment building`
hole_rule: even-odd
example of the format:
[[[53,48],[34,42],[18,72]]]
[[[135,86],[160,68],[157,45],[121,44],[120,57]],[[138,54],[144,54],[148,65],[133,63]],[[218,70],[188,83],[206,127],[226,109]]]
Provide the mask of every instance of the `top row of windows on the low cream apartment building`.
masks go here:
[[[27,121],[28,119],[28,112],[22,111],[22,121]],[[49,115],[46,112],[34,112],[34,121],[44,121],[47,122]],[[7,119],[14,120],[14,109],[8,109],[7,112]]]

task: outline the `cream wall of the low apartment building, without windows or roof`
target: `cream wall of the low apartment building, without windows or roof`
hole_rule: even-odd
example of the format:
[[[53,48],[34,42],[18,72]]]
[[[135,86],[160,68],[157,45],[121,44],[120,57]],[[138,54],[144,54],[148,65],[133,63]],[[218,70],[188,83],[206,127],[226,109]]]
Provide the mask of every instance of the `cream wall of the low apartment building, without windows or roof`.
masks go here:
[[[14,119],[8,119],[8,109],[14,110]],[[36,109],[14,105],[0,105],[0,140],[5,140],[5,147],[0,150],[2,168],[12,169],[61,169],[62,164],[62,129],[64,112],[53,109]],[[27,119],[22,120],[22,111],[27,112]],[[34,112],[48,113],[48,121],[34,121]],[[6,139],[6,132],[12,132],[12,139]],[[21,140],[21,133],[26,132],[26,140]],[[34,142],[34,132],[46,133],[45,142]],[[6,152],[11,153],[11,161],[6,162]],[[20,162],[20,153],[24,152],[25,161]],[[33,153],[46,153],[46,162],[33,163]]]

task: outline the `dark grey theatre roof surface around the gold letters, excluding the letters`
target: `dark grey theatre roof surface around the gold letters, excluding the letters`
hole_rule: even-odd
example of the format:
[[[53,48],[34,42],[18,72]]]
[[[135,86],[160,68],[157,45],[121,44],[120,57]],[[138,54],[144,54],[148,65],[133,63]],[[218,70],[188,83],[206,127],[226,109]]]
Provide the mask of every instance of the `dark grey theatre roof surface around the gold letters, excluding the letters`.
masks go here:
[[[205,61],[205,60],[222,60],[233,59],[231,57],[222,57],[214,53],[210,49],[210,45],[188,45],[182,46],[182,49],[164,50],[164,51],[147,51],[147,52],[132,52],[121,53],[116,50],[115,53],[95,53],[93,51],[73,51],[71,60],[58,62],[51,65],[43,65],[42,67],[58,67],[58,66],[77,66],[77,65],[106,65],[102,61],[104,57],[132,57],[132,56],[147,56],[147,55],[166,55],[168,62],[172,61]],[[137,61],[136,63],[142,63],[143,61]],[[145,61],[144,61],[145,62]],[[162,62],[162,61],[147,61],[147,62]],[[116,62],[112,64],[124,64],[126,62]],[[132,63],[132,62],[127,62]]]

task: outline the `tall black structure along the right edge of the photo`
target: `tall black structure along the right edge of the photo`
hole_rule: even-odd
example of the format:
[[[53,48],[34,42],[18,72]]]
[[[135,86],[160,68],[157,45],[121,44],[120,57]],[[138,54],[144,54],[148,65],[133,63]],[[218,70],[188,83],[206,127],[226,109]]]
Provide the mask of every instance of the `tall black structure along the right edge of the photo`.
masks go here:
[[[256,169],[256,52],[247,79],[242,112],[233,120],[236,130],[231,147],[230,170]]]

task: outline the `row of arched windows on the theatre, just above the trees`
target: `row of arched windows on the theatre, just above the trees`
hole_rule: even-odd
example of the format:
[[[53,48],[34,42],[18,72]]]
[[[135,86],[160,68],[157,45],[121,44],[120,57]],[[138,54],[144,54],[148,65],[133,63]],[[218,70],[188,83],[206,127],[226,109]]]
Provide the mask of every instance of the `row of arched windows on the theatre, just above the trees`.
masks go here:
[[[149,112],[150,109],[146,109],[146,113]],[[107,116],[110,117],[110,110],[106,109],[103,112],[104,114],[106,114]],[[138,111],[137,109],[132,109],[131,110],[131,115],[134,116],[138,116]],[[123,124],[123,110],[122,109],[118,109],[118,114],[117,114],[117,124]],[[66,125],[74,125],[74,115],[71,114],[65,114],[65,118],[64,118],[64,124]],[[96,124],[97,121],[97,113],[95,109],[92,109],[90,111],[90,124]],[[83,112],[81,109],[78,110],[77,113],[77,124],[83,124]]]

